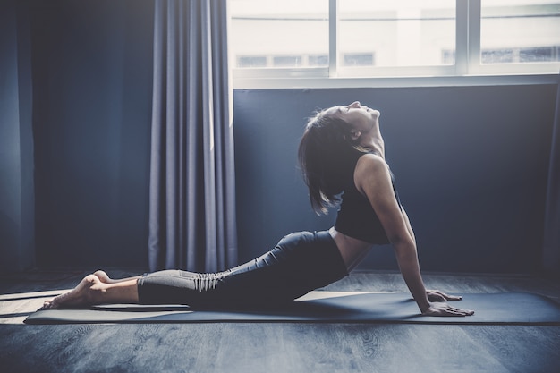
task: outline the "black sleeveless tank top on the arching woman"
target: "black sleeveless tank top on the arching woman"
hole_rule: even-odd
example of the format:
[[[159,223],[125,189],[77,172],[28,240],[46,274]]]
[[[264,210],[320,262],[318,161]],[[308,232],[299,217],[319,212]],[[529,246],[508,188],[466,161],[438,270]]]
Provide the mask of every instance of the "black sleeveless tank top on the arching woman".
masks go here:
[[[355,170],[358,159],[363,155],[364,153],[357,154],[355,159],[352,160],[352,164],[349,165],[352,171]],[[353,172],[352,174],[348,173],[346,176],[348,180],[344,180],[344,192],[341,196],[342,201],[336,216],[335,229],[340,233],[361,241],[373,244],[389,243],[385,229],[381,225],[375,210],[371,207],[369,200],[356,189],[353,174]],[[395,189],[395,176],[392,172],[390,174],[396,201],[399,207],[403,208]]]

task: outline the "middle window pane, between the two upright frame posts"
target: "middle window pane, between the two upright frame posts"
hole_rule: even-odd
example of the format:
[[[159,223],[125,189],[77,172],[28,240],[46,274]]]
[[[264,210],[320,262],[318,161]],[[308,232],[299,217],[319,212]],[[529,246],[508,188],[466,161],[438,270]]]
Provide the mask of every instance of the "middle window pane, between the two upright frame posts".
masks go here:
[[[339,0],[338,42],[344,63],[369,55],[376,66],[454,64],[455,0]]]

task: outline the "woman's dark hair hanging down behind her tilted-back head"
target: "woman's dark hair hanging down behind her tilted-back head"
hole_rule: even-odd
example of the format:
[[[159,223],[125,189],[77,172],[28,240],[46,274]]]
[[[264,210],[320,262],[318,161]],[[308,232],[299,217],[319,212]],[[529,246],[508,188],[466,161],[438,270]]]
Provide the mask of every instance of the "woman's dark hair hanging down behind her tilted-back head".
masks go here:
[[[338,203],[344,182],[353,174],[349,161],[364,151],[352,144],[350,125],[340,118],[319,112],[307,123],[298,161],[311,207],[318,215],[327,214]]]

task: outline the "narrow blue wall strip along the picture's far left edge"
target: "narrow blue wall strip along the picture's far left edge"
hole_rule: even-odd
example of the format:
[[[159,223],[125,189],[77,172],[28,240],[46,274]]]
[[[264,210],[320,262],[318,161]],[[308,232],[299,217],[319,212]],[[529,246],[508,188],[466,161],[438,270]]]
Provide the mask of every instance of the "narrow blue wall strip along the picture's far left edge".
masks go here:
[[[27,11],[0,2],[0,270],[35,264],[30,35]]]

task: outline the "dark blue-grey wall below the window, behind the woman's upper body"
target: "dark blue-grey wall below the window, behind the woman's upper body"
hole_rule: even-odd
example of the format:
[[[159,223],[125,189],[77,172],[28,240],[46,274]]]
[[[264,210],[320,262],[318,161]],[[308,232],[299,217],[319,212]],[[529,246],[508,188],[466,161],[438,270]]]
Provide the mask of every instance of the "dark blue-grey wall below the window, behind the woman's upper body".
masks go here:
[[[305,118],[350,103],[378,108],[386,158],[425,270],[539,267],[555,85],[236,90],[239,246],[250,259],[296,230],[327,229],[296,169]],[[389,247],[362,268],[396,269]]]

